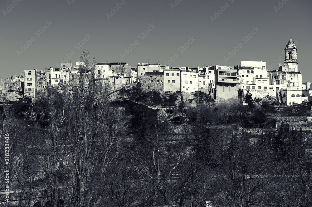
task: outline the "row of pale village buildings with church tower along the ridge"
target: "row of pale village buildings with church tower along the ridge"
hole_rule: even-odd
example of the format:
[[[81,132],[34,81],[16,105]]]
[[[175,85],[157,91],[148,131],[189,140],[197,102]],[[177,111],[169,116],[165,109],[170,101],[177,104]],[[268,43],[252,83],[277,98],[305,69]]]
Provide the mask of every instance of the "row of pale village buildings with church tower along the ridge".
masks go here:
[[[35,99],[47,84],[80,84],[79,68],[83,63],[62,63],[61,68],[24,70],[20,75],[1,80],[2,98],[10,101],[23,97]],[[108,81],[112,89],[137,84],[147,91],[192,93],[202,91],[214,99],[244,97],[248,92],[254,98],[274,96],[283,105],[312,101],[311,83],[302,83],[298,71],[297,48],[293,40],[285,47],[284,64],[278,70],[268,71],[266,62],[241,61],[237,66],[214,65],[207,67],[169,68],[168,65],[139,62],[131,67],[126,62],[97,63],[84,75],[94,75],[96,81]]]

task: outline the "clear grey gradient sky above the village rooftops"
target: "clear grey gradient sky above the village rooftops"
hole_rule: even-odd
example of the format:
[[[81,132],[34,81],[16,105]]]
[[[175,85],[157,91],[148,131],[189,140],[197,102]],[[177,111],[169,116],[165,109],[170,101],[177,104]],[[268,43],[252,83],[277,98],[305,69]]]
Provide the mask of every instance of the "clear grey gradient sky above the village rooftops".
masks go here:
[[[98,62],[132,67],[262,60],[275,70],[291,35],[302,81],[311,82],[311,6],[310,0],[1,0],[0,79],[76,65],[83,50]]]

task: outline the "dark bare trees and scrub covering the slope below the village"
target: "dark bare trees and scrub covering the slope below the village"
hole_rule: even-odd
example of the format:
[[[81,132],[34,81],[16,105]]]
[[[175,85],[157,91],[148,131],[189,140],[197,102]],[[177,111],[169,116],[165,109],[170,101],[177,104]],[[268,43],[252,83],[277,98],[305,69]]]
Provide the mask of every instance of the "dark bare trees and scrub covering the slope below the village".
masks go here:
[[[34,103],[3,105],[0,136],[10,137],[10,189],[20,190],[20,206],[312,205],[311,134],[286,124],[270,131],[270,114],[290,109],[215,103],[202,92],[187,108],[180,93],[129,91],[113,101],[110,85],[91,79],[72,94],[48,87]]]

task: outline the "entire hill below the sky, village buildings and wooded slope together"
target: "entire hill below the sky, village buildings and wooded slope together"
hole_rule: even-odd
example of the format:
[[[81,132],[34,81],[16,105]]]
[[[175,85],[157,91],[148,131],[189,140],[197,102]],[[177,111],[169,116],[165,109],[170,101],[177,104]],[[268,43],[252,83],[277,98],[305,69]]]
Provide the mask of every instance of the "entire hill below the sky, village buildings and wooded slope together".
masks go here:
[[[311,206],[312,85],[294,41],[274,71],[90,60],[1,81],[0,205]]]

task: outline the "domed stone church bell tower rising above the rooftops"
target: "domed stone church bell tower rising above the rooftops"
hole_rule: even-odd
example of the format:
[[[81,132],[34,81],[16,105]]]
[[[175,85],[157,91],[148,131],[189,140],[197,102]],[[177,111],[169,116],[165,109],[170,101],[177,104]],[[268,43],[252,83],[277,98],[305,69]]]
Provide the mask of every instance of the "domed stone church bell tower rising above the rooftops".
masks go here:
[[[285,48],[285,65],[289,65],[290,71],[298,72],[297,48],[293,40],[289,40]]]

